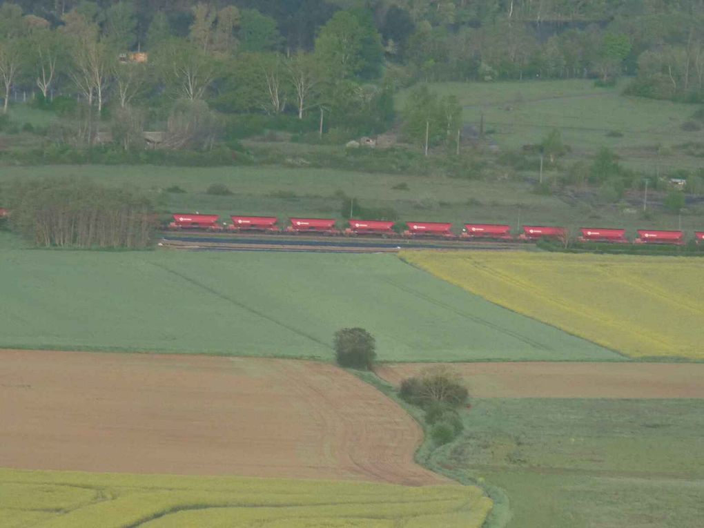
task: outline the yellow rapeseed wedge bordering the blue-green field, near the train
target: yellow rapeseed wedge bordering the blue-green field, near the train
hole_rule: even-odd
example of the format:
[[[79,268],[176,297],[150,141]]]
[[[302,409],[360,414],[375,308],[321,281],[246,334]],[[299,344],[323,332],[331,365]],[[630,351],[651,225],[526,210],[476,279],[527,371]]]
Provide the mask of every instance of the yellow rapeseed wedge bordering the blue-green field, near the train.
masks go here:
[[[406,251],[401,258],[627,356],[704,359],[701,258],[524,251]]]

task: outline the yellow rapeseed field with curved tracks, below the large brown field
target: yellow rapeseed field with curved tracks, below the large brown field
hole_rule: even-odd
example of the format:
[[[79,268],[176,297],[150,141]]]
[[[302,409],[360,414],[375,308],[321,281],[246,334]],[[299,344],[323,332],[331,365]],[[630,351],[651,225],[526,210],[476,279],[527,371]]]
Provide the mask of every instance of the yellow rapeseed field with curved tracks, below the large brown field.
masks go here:
[[[475,486],[0,469],[0,527],[479,528]]]

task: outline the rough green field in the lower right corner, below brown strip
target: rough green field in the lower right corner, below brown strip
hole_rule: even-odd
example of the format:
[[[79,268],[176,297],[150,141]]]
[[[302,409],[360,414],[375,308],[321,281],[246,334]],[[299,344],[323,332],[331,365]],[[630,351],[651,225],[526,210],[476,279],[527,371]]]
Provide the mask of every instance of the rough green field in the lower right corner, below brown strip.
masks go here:
[[[704,401],[472,401],[434,467],[508,494],[508,528],[698,528]]]

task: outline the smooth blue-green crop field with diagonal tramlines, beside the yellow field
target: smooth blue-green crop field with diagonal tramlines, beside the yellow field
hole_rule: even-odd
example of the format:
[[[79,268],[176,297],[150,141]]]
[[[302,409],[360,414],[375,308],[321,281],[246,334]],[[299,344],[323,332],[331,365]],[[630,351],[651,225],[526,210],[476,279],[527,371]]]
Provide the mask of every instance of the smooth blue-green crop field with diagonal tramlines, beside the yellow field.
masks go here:
[[[0,346],[332,359],[360,326],[379,360],[612,360],[615,353],[391,255],[0,252]]]

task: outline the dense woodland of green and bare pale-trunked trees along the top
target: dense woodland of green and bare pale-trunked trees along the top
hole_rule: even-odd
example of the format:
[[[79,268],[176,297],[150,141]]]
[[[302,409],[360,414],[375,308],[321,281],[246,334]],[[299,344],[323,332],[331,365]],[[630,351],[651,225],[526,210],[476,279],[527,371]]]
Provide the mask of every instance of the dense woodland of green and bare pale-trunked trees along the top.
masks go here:
[[[394,90],[417,81],[593,77],[610,84],[624,74],[634,76],[631,94],[703,101],[704,4],[0,4],[2,110],[20,92],[36,94],[40,106],[70,108],[71,119],[51,134],[75,146],[98,141],[106,113],[113,141],[125,150],[144,146],[148,124],[165,129],[165,146],[207,148],[227,128],[222,115],[296,118],[321,134],[324,127],[374,134],[394,121]],[[422,91],[410,98],[416,108],[404,110],[403,130],[420,143],[450,145],[458,105],[431,99]]]

